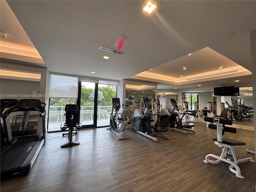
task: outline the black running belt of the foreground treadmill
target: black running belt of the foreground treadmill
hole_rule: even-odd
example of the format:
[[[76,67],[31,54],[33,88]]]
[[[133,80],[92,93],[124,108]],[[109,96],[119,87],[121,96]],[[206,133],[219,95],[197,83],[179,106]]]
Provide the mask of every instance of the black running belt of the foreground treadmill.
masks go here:
[[[10,146],[8,150],[1,154],[1,172],[2,170],[19,168],[35,144],[36,141],[30,141]]]

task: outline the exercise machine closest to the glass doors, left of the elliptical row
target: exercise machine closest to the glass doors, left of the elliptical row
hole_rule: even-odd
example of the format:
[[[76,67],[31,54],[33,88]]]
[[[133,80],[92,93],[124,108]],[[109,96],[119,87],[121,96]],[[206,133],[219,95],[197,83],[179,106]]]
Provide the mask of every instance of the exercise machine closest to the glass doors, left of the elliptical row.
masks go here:
[[[124,108],[121,117],[118,116],[118,111],[120,109],[120,98],[112,98],[112,112],[110,114],[110,125],[107,130],[112,131],[116,136],[117,140],[130,139],[126,136],[124,132],[128,124],[128,109]]]

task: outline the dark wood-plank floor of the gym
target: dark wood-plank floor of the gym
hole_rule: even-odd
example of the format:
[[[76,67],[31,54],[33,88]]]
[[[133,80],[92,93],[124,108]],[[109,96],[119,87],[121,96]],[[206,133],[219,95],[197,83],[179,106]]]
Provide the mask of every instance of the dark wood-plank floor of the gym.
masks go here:
[[[242,176],[230,172],[229,164],[206,164],[207,154],[221,154],[214,144],[216,130],[198,122],[195,134],[164,132],[170,140],[156,143],[134,131],[118,141],[106,128],[80,130],[80,145],[60,148],[68,141],[62,133],[50,133],[27,176],[1,182],[1,192],[255,192],[256,164],[239,164]],[[235,148],[238,159],[255,155],[254,132],[237,129],[224,138],[246,142]]]

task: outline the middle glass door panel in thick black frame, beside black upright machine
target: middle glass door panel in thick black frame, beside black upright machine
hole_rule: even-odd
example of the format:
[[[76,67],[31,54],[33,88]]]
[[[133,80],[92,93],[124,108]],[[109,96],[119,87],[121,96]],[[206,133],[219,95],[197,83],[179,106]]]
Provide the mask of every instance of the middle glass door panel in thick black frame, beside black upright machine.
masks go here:
[[[78,83],[78,110],[80,111],[79,122],[84,128],[95,128],[97,118],[97,95],[98,86],[95,82],[80,81]]]

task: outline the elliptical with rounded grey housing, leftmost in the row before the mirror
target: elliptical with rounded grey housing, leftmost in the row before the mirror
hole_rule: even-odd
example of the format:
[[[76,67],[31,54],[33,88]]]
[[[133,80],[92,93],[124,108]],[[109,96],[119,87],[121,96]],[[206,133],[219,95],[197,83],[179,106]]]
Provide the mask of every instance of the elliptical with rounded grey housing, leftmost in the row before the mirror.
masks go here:
[[[146,98],[146,97],[143,97],[142,100],[145,106],[145,110],[143,111],[141,109],[136,109],[134,111],[132,130],[155,142],[158,142],[158,138],[152,137],[148,134],[155,134],[157,136],[160,136],[162,138],[169,140],[170,138],[168,135],[164,135],[160,133],[158,130],[156,130],[156,128],[151,126],[150,114],[147,114],[147,112],[150,111],[152,108],[150,104],[150,100],[149,98]],[[151,128],[153,128],[154,130],[152,130]]]

